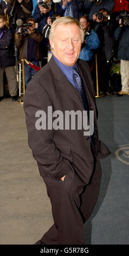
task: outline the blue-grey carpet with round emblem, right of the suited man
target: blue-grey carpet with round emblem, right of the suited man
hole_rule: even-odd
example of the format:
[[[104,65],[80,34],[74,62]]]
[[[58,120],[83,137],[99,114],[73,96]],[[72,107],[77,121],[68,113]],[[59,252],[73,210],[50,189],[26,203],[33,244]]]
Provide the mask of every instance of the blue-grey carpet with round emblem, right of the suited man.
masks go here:
[[[85,224],[87,245],[129,244],[129,96],[96,98],[99,138],[112,154],[101,160],[98,201]]]

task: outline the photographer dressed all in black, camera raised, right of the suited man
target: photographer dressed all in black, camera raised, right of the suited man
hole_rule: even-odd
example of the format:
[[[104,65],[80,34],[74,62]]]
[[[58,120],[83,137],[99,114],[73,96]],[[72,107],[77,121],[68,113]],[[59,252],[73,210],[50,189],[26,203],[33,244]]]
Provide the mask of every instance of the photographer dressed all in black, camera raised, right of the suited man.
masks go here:
[[[94,31],[98,34],[100,47],[98,54],[98,75],[100,94],[109,94],[109,79],[112,60],[115,54],[114,27],[109,19],[108,11],[100,9],[99,15],[93,15]]]

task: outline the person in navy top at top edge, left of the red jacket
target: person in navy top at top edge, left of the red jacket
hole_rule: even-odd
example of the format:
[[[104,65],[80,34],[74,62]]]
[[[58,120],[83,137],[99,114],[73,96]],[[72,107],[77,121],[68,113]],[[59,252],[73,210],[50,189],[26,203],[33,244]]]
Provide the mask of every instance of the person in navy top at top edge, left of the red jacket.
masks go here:
[[[93,18],[93,14],[99,13],[102,8],[107,9],[110,13],[114,8],[114,0],[85,0],[84,7],[89,10],[89,20]]]

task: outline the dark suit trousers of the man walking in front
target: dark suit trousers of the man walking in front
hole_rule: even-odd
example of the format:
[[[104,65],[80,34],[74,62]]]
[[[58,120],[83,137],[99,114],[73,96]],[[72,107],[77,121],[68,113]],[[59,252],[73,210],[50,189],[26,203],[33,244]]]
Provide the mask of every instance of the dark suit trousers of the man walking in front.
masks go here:
[[[54,224],[42,239],[36,242],[37,245],[85,245],[84,223],[91,216],[98,198],[101,181],[100,162],[98,160],[95,163],[88,185],[79,181],[77,192],[67,189],[69,175],[70,170],[64,181],[43,177],[52,206]]]

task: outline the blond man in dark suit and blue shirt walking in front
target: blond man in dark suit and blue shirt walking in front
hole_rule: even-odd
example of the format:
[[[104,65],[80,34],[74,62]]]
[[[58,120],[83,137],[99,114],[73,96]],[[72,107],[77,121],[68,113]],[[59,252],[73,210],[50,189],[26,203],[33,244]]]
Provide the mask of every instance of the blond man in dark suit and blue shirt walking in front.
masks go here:
[[[83,223],[99,193],[99,158],[110,154],[98,139],[88,65],[78,60],[83,36],[79,21],[72,17],[53,22],[49,35],[53,57],[29,83],[24,96],[29,146],[46,184],[54,218],[53,226],[36,242],[40,245],[85,244]],[[75,126],[75,113],[86,111],[84,119],[88,117],[90,124],[90,111],[94,111],[94,132],[85,133],[73,123],[68,129],[68,115],[64,126],[64,113],[69,111]]]

